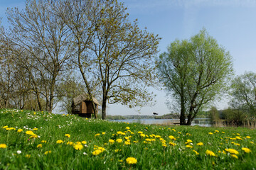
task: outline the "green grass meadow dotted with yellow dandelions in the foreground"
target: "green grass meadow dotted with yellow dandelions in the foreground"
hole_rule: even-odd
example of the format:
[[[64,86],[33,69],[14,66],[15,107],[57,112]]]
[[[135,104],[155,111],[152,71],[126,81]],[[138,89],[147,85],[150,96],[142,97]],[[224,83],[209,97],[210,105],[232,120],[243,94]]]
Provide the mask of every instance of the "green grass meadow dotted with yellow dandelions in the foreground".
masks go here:
[[[0,148],[0,169],[254,169],[256,167],[255,130],[246,128],[114,123],[75,115],[17,110],[0,110],[0,125],[0,144],[7,146]],[[4,126],[8,128],[3,128]],[[33,130],[34,128],[38,130]],[[18,129],[23,131],[18,132]],[[37,135],[36,138],[30,138],[31,135],[26,134],[28,130],[32,130]],[[122,134],[117,134],[117,132],[121,133],[119,131]],[[139,131],[144,135],[140,135]],[[102,132],[103,134],[105,132],[105,135]],[[213,134],[210,135],[209,132]],[[65,134],[69,134],[70,137],[66,137]],[[176,140],[171,140],[169,137],[171,135]],[[125,144],[128,139],[125,137],[129,137],[130,145]],[[111,139],[114,140],[114,144],[109,142]],[[118,143],[117,139],[122,139],[122,142]],[[43,140],[46,143],[42,142]],[[58,140],[63,140],[63,143],[56,143]],[[192,142],[186,143],[187,140]],[[82,149],[75,149],[75,144],[67,145],[67,142],[82,141],[87,142],[81,144]],[[171,146],[169,142],[174,142],[176,145]],[[198,142],[203,142],[203,146],[197,145]],[[38,147],[40,144],[42,147]],[[93,155],[92,152],[99,149],[98,147],[103,147],[105,150]],[[250,149],[251,152],[246,153],[242,150],[243,147]],[[206,154],[207,149],[215,156]],[[232,157],[230,152],[225,152],[225,149],[238,151],[237,158]],[[17,151],[21,153],[18,154]],[[47,151],[51,153],[45,154]],[[137,159],[137,164],[128,164],[127,157]]]

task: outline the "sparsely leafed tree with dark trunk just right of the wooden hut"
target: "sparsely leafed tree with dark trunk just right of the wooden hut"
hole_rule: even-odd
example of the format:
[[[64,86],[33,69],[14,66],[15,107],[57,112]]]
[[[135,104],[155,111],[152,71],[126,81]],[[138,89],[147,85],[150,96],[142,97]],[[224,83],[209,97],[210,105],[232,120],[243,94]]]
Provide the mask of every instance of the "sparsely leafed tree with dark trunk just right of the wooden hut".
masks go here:
[[[141,30],[137,20],[130,22],[126,10],[117,1],[103,1],[87,53],[92,61],[87,72],[97,77],[101,86],[102,119],[106,118],[107,103],[132,108],[152,100],[146,86],[154,77],[153,57],[160,38]]]

